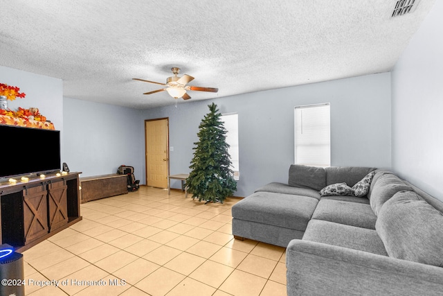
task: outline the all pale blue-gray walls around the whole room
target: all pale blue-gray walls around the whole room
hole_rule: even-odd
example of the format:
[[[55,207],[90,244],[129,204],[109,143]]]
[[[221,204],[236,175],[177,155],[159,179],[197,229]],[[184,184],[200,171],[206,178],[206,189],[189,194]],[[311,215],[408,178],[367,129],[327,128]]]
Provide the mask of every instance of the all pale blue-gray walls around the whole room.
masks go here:
[[[393,171],[443,200],[442,12],[443,3],[436,1],[392,75],[381,73],[212,100],[221,112],[239,113],[241,176],[236,194],[246,196],[267,182],[286,182],[293,163],[293,107],[330,102],[332,166],[391,168],[392,151]],[[174,147],[170,172],[187,173],[199,122],[212,102],[191,100],[177,108],[137,111],[63,99],[61,79],[8,67],[0,66],[0,81],[17,85],[27,95],[10,102],[12,109],[38,107],[62,131],[62,161],[71,171],[99,175],[129,164],[136,167],[136,177],[142,182],[143,119],[170,118],[170,146]],[[173,185],[179,188],[178,182]]]

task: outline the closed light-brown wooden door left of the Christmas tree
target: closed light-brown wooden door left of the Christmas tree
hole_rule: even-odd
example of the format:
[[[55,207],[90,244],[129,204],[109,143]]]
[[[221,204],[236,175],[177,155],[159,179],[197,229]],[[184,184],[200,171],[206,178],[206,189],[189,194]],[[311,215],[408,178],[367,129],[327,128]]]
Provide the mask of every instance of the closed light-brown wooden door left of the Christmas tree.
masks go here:
[[[168,119],[145,121],[146,185],[168,187]]]

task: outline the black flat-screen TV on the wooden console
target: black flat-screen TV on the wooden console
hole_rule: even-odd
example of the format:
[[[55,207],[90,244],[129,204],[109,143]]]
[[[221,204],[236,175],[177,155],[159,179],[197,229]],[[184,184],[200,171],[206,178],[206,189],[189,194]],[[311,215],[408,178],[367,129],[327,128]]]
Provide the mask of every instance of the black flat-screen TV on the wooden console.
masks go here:
[[[0,125],[0,178],[60,171],[60,131]]]

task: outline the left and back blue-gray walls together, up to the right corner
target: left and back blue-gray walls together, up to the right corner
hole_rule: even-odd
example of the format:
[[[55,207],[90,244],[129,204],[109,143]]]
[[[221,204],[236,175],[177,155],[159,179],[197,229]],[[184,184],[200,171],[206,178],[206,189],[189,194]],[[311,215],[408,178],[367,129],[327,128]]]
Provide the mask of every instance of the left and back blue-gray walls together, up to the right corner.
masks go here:
[[[144,119],[170,119],[170,173],[188,173],[198,125],[217,103],[222,113],[239,114],[238,196],[268,182],[287,182],[293,163],[293,107],[331,103],[332,166],[390,168],[390,73],[230,96],[187,101],[176,107],[132,110],[62,98],[62,80],[0,67],[2,82],[21,87],[24,100],[11,108],[38,107],[62,130],[62,162],[82,176],[135,167],[145,183]],[[174,182],[179,188],[179,183]]]

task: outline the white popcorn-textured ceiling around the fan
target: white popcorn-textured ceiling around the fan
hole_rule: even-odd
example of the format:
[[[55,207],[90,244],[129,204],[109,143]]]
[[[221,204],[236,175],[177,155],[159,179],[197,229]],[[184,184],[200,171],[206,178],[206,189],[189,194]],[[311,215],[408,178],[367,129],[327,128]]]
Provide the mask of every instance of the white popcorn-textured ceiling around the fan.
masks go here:
[[[434,1],[391,18],[397,0],[0,0],[0,65],[147,109],[175,100],[132,78],[165,82],[171,67],[219,88],[192,100],[390,71]]]

